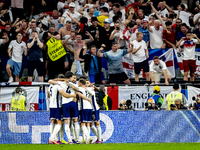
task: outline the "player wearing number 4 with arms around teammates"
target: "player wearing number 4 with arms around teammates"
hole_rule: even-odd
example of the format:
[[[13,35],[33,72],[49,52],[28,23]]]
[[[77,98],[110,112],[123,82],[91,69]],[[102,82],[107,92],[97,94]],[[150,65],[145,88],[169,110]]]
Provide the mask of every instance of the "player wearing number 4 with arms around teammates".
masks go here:
[[[70,135],[70,117],[72,117],[74,126],[75,126],[75,141],[76,143],[79,143],[79,135],[80,135],[80,127],[78,124],[78,116],[79,116],[79,111],[77,104],[75,102],[76,98],[76,91],[79,91],[77,86],[72,83],[68,83],[69,80],[73,80],[73,73],[72,72],[66,72],[65,77],[66,81],[65,83],[60,82],[60,79],[56,79],[54,81],[49,80],[49,83],[51,84],[59,84],[59,92],[63,96],[62,97],[62,104],[63,104],[63,119],[65,120],[65,132],[68,138],[68,143],[72,144],[72,137]],[[57,82],[56,82],[57,81]],[[66,91],[66,93],[65,93]],[[91,100],[87,97],[85,97],[83,94],[77,92],[78,96],[87,100]]]

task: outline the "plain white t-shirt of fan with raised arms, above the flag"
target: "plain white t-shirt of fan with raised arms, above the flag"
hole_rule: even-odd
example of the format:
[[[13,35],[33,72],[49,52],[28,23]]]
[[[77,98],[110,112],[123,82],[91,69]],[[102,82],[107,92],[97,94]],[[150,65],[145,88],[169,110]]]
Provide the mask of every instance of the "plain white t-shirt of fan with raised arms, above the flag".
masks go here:
[[[159,30],[156,30],[154,26],[151,26],[152,32],[149,32],[150,35],[150,47],[152,49],[161,48],[163,45],[162,33],[163,27],[160,26]]]

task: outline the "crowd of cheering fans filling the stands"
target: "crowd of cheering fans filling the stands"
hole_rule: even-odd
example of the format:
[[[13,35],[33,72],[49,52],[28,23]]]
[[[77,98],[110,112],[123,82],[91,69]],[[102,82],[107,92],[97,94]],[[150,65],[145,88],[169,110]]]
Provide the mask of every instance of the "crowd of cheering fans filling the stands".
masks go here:
[[[71,71],[93,84],[130,84],[122,57],[132,53],[136,82],[143,69],[147,81],[163,74],[168,85],[166,64],[148,63],[148,49],[165,48],[184,51],[184,80],[190,71],[194,81],[198,1],[189,9],[179,1],[1,0],[0,12],[1,82],[32,81],[37,69],[39,82]]]

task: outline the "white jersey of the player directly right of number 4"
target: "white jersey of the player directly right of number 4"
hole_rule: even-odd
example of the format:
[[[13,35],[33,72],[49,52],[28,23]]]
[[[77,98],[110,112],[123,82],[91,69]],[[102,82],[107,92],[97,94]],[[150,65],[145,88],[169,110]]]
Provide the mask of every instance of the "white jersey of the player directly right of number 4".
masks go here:
[[[90,94],[88,93],[88,91],[82,87],[79,87],[79,91],[85,95],[86,97],[90,98]],[[88,100],[82,99],[80,98],[78,101],[78,108],[79,110],[82,109],[92,109],[92,105]]]

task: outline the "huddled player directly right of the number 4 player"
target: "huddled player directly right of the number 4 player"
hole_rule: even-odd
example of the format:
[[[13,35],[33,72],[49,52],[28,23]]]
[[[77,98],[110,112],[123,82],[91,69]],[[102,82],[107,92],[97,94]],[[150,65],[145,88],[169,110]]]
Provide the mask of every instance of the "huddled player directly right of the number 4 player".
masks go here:
[[[88,90],[85,87],[86,85],[86,81],[85,79],[80,79],[78,81],[78,86],[79,86],[79,91],[85,95],[87,98],[90,97],[90,94],[88,92]],[[89,131],[90,130],[88,128],[86,128],[87,126],[90,126],[90,123],[92,122],[92,105],[91,105],[91,99],[83,99],[83,98],[79,98],[78,101],[78,106],[79,106],[79,110],[80,110],[80,114],[81,114],[81,129],[82,129],[82,133],[83,133],[83,141],[86,142],[86,144],[89,144],[92,141],[92,138],[90,138],[89,135]]]

